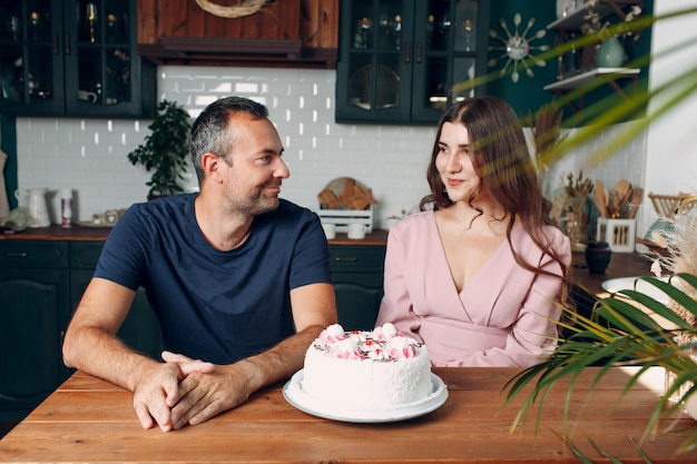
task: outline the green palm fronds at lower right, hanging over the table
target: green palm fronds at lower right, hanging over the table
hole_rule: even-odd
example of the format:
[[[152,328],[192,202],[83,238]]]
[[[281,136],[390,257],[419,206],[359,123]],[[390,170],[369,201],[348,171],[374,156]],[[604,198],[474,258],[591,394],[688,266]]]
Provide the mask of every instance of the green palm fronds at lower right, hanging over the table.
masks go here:
[[[677,274],[673,279],[676,278],[680,279],[683,285],[691,287],[691,290],[697,290],[697,277]],[[697,302],[680,288],[655,277],[640,279],[661,289],[669,298],[697,315]],[[655,314],[665,317],[675,327],[661,326],[644,310],[638,309],[637,305],[644,305]],[[697,378],[697,364],[689,356],[691,349],[697,347],[697,342],[683,345],[676,342],[676,334],[679,330],[693,334],[697,338],[697,328],[678,317],[670,307],[640,292],[622,290],[617,295],[599,299],[591,317],[580,315],[575,315],[575,317],[576,324],[565,324],[565,327],[571,332],[570,337],[560,342],[549,359],[521,371],[507,383],[504,407],[510,405],[526,387],[532,385],[532,391],[527,393],[528,396],[520,406],[512,427],[524,426],[529,414],[536,408],[536,415],[539,418],[544,396],[562,379],[569,381],[566,386],[567,395],[563,406],[565,421],[567,421],[576,381],[579,374],[589,366],[600,366],[590,391],[612,366],[641,366],[628,378],[618,401],[621,401],[641,374],[651,366],[662,366],[676,374],[674,384],[656,402],[656,407],[646,425],[644,438],[658,424],[658,421],[677,409],[678,405],[669,404],[668,398],[671,394],[685,388],[687,391],[683,399],[697,394],[697,385],[693,384]],[[536,431],[538,422],[536,421]],[[680,452],[697,447],[697,424],[686,435]],[[609,457],[609,454],[607,456]]]

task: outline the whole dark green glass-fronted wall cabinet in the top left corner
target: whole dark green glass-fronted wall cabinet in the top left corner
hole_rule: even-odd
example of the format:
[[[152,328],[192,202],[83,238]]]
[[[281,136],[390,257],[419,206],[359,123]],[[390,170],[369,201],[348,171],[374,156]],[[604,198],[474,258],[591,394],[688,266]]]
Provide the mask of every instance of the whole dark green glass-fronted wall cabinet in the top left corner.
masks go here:
[[[0,112],[150,117],[155,65],[136,46],[136,0],[4,0]]]

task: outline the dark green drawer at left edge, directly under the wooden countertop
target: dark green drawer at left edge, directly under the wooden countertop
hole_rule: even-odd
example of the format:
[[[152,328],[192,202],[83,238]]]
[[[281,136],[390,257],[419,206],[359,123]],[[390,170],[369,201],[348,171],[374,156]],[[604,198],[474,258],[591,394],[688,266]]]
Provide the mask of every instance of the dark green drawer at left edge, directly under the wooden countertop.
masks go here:
[[[66,241],[0,241],[0,266],[2,267],[67,268],[68,256]]]

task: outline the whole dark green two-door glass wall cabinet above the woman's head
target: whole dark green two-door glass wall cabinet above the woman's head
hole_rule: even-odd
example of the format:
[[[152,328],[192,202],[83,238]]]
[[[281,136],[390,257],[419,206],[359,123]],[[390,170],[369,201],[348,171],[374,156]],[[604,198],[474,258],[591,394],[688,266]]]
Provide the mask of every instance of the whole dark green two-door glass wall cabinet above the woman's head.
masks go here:
[[[485,91],[488,0],[341,3],[337,122],[433,124]]]

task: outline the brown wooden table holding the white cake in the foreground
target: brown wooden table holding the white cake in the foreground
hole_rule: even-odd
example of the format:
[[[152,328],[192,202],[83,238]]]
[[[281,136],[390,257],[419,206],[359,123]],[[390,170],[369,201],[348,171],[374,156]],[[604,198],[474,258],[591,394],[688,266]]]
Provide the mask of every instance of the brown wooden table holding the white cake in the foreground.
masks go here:
[[[579,462],[552,432],[565,431],[561,388],[544,403],[537,441],[531,424],[522,433],[511,433],[517,407],[497,415],[501,388],[516,372],[435,368],[449,387],[448,401],[439,409],[405,422],[354,424],[318,418],[295,409],[284,399],[282,385],[276,385],[207,423],[169,433],[143,430],[129,392],[78,372],[0,441],[0,462]],[[658,393],[637,386],[617,404],[627,373],[612,368],[587,398],[595,372],[588,369],[577,384],[567,433],[592,458],[600,455],[586,436],[626,463],[644,463],[635,443]],[[654,374],[661,384],[662,371]],[[683,416],[671,425],[685,428],[694,421]],[[655,463],[697,462],[697,452],[676,456],[683,440],[659,432],[644,443],[644,451]]]

